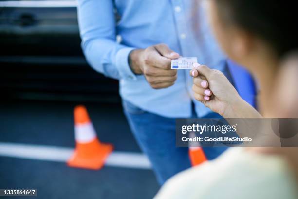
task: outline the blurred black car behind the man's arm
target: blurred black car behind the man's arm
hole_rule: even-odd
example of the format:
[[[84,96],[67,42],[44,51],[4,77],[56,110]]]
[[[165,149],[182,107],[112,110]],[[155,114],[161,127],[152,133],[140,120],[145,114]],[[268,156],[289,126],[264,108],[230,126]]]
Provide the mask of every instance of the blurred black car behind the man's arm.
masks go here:
[[[75,0],[0,0],[0,89],[5,98],[119,101],[118,82],[86,62]]]

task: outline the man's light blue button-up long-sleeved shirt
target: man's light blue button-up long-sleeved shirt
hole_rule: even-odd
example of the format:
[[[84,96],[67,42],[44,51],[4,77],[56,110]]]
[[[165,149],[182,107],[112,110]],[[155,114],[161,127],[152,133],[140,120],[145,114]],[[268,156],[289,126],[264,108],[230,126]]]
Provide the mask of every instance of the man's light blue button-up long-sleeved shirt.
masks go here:
[[[143,75],[135,75],[128,55],[135,48],[167,44],[182,56],[223,70],[225,57],[206,20],[204,1],[193,0],[78,0],[82,48],[90,65],[118,79],[124,100],[161,116],[191,116],[191,101],[198,116],[210,110],[192,97],[189,70],[179,70],[171,87],[155,90]],[[115,19],[115,10],[120,20]],[[117,38],[121,41],[117,42]]]

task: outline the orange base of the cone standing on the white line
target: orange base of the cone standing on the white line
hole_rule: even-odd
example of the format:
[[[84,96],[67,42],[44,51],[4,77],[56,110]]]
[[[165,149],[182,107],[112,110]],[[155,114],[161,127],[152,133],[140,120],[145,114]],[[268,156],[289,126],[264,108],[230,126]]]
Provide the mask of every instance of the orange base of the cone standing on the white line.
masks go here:
[[[67,165],[70,167],[84,169],[101,169],[105,164],[105,160],[108,158],[110,153],[112,153],[113,145],[100,143],[98,150],[98,153],[93,156],[82,157],[76,149],[73,156],[67,161]]]

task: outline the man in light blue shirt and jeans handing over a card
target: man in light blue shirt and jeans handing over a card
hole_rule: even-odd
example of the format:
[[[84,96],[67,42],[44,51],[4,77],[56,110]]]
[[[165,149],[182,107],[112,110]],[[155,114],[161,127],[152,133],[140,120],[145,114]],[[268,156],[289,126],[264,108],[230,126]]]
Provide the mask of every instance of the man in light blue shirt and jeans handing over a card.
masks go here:
[[[190,167],[188,149],[175,146],[175,118],[219,117],[194,100],[188,70],[170,69],[171,59],[184,56],[225,70],[204,1],[195,1],[78,0],[86,59],[96,71],[119,80],[130,128],[160,184]],[[208,159],[223,150],[204,149]]]

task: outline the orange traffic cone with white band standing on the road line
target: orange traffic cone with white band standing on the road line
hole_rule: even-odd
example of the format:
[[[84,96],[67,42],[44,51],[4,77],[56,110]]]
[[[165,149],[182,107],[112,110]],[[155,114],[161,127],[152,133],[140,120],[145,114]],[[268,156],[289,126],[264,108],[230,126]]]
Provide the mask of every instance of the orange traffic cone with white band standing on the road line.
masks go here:
[[[85,106],[76,106],[74,115],[76,147],[67,164],[71,167],[100,169],[112,152],[113,146],[101,143],[97,139]]]

